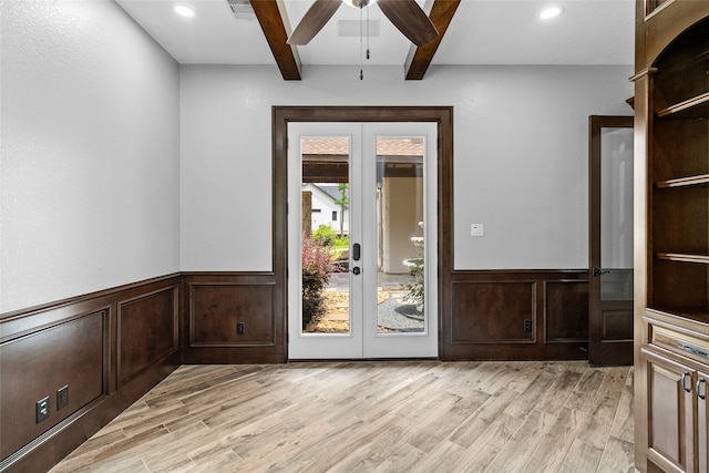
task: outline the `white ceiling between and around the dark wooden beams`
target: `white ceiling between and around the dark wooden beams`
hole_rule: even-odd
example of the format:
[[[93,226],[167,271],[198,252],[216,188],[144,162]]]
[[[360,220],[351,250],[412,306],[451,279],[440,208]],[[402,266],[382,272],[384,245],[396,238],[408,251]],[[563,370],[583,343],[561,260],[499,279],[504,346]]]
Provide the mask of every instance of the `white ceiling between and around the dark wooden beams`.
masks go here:
[[[227,0],[116,0],[135,21],[183,64],[275,64],[257,20],[237,20]],[[429,4],[418,0],[427,12]],[[282,0],[288,32],[312,0]],[[196,14],[183,19],[175,3]],[[564,7],[551,21],[537,18],[549,3]],[[376,4],[370,21],[370,64],[402,65],[411,43]],[[366,16],[363,17],[367,18]],[[635,0],[462,0],[433,64],[633,64]],[[297,53],[302,64],[359,64],[360,39],[338,35],[340,20],[359,21],[342,6],[320,33]]]

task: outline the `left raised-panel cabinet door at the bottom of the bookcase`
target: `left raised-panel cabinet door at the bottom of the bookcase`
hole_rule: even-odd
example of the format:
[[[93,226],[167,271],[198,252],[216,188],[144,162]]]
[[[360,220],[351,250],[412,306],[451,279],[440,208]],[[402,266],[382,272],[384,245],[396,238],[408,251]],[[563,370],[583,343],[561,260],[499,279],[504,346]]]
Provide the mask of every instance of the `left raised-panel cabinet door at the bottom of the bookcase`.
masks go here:
[[[643,350],[648,388],[648,460],[665,471],[695,471],[695,372]]]

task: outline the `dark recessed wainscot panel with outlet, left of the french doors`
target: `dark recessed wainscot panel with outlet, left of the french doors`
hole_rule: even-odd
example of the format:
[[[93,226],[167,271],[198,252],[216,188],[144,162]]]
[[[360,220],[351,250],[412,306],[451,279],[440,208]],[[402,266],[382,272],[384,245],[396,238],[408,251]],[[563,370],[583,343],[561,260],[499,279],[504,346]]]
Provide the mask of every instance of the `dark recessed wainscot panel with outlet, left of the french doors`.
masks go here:
[[[189,287],[189,345],[275,346],[274,284],[193,284]],[[237,333],[237,323],[244,333]]]

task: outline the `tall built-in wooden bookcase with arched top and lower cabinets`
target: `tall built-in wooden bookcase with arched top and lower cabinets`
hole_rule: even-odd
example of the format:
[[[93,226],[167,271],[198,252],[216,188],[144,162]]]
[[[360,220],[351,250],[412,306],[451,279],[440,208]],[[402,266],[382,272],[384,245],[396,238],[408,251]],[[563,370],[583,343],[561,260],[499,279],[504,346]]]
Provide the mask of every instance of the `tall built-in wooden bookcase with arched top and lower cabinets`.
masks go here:
[[[707,472],[709,1],[637,0],[636,467]]]

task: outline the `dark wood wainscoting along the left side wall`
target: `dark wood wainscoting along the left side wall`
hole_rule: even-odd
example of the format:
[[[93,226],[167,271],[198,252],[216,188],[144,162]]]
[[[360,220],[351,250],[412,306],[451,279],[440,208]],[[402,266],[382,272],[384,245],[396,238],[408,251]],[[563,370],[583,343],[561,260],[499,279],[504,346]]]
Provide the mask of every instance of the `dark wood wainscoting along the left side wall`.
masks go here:
[[[179,275],[2,315],[0,471],[51,469],[172,372],[178,315]]]

